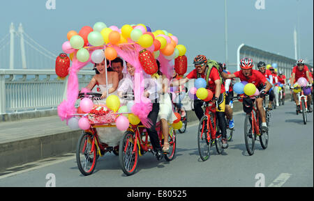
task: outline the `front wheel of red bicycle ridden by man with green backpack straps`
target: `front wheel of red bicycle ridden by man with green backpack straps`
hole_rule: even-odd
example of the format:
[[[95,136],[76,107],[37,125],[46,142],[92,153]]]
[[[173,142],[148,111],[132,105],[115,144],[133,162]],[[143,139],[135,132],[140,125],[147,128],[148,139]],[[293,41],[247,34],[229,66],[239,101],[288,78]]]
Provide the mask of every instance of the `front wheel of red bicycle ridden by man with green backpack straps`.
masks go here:
[[[197,145],[198,145],[198,152],[200,153],[200,158],[202,161],[207,161],[209,159],[210,154],[210,147],[209,141],[207,140],[208,132],[207,127],[207,116],[204,115],[200,120],[200,124],[198,124],[197,130]]]

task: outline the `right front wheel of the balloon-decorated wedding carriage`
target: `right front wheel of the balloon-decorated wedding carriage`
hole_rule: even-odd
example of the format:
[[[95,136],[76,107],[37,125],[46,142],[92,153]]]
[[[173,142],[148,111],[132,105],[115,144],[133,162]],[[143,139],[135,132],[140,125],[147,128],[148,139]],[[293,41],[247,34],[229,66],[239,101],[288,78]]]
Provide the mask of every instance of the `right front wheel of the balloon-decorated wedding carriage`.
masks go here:
[[[133,152],[134,150],[134,152]],[[138,152],[135,144],[135,134],[126,131],[119,145],[119,165],[124,174],[133,175],[137,168]]]

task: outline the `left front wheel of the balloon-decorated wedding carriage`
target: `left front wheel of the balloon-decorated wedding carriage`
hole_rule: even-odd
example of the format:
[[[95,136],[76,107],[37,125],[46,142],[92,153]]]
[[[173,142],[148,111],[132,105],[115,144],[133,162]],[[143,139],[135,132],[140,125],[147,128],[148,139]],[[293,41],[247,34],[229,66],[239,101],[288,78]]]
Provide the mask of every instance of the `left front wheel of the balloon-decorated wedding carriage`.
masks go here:
[[[97,148],[93,146],[94,136],[83,131],[76,147],[76,163],[82,175],[91,175],[97,162]],[[93,149],[93,150],[92,150]]]

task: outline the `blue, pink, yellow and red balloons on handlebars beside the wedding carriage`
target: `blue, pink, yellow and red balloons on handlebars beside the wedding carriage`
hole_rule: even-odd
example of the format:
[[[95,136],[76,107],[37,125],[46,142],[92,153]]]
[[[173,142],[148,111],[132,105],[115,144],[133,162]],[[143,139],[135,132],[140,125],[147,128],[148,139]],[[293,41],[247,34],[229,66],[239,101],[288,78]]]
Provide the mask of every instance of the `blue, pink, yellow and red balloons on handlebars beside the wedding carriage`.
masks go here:
[[[194,81],[194,87],[190,88],[188,96],[190,99],[202,99],[205,102],[209,102],[213,98],[211,90],[206,88],[207,82],[203,78],[197,78]]]

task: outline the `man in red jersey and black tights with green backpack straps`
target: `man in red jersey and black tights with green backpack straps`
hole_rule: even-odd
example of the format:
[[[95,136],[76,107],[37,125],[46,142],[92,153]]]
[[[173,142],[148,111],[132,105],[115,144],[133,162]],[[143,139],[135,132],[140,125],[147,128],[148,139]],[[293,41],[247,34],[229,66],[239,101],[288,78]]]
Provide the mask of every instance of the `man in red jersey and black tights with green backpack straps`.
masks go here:
[[[207,88],[214,93],[214,97],[211,102],[216,102],[216,114],[219,122],[219,127],[223,136],[223,148],[227,148],[227,122],[225,120],[225,87],[220,82],[220,76],[217,68],[219,68],[218,63],[216,66],[211,67],[209,70],[209,65],[207,63],[207,58],[204,55],[197,55],[193,61],[195,69],[190,72],[186,78],[179,79],[172,83],[173,86],[179,86],[186,82],[189,79],[204,78],[207,82]],[[209,75],[209,76],[208,76]],[[197,118],[201,120],[204,115],[202,109],[204,101],[200,99],[194,100],[194,111],[197,115]]]

